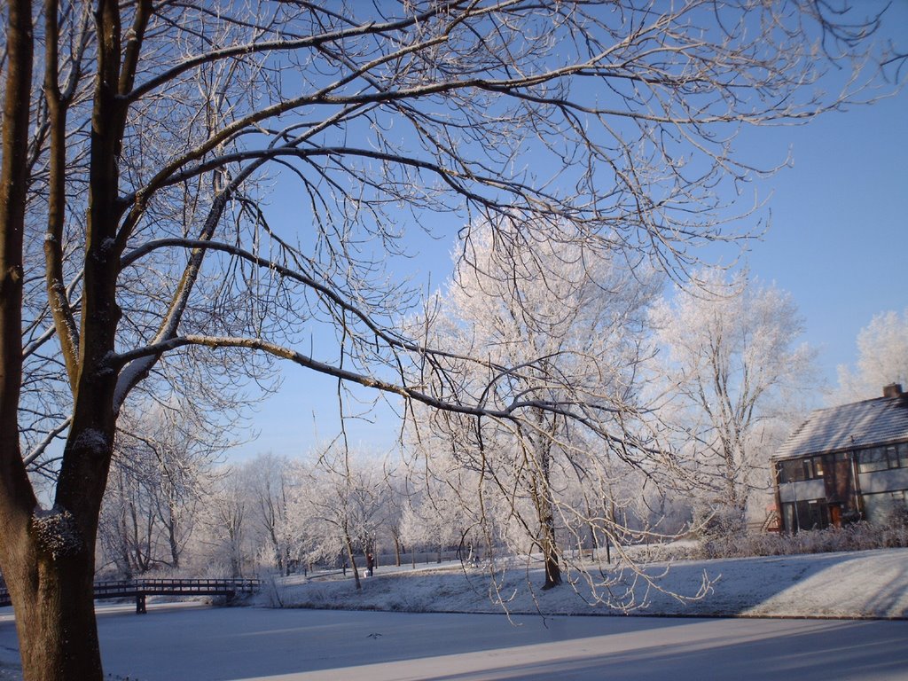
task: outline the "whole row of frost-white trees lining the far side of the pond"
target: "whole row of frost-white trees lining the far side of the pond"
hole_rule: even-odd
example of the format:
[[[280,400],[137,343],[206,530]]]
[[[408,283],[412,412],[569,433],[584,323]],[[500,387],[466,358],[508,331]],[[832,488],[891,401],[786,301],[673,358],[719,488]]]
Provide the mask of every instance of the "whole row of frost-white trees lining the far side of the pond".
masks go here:
[[[487,348],[493,364],[545,357],[550,376],[567,380],[573,371],[574,386],[626,393],[637,427],[663,448],[663,469],[646,469],[620,447],[559,437],[556,418],[540,416],[547,447],[530,451],[532,436],[520,441],[500,424],[465,426],[429,410],[416,413],[403,453],[393,456],[336,443],[299,459],[262,455],[224,466],[223,429],[192,405],[156,405],[123,419],[99,567],[240,576],[355,566],[367,550],[535,550],[554,586],[565,548],[696,534],[715,518],[724,531],[740,531],[748,505],[761,520],[768,457],[804,408],[817,406],[821,387],[814,351],[798,343],[794,301],[745,273],[718,270],[701,271],[696,289],[664,296],[652,273],[631,276],[556,243],[535,246],[532,257],[509,244],[508,262],[525,271],[508,279],[491,242],[475,240],[477,266],[459,270],[419,323],[437,345]],[[519,307],[508,305],[516,298]],[[908,314],[874,318],[859,336],[857,369],[842,369],[847,381],[827,400],[906,381],[906,338]],[[519,390],[518,377],[507,380]]]

